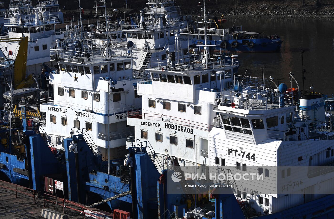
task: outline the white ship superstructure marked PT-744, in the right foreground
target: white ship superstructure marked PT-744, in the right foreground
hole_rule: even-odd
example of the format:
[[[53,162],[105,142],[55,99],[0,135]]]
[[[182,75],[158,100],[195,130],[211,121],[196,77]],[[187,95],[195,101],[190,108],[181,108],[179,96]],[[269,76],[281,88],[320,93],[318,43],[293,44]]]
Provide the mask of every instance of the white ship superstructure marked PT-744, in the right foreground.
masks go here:
[[[228,95],[221,94],[215,108],[220,122],[209,134],[210,166],[264,176],[263,184],[247,181],[234,188],[236,196],[253,208],[247,213],[272,214],[316,200],[326,195],[319,194],[321,189],[333,184],[325,179],[326,174],[320,174],[324,179],[314,182],[307,171],[307,180],[296,177],[301,173],[294,167],[307,170],[308,166],[331,166],[334,141],[332,115],[325,112],[324,98],[304,95],[297,106],[292,95],[285,84],[279,89],[265,88],[263,84],[242,86]],[[306,190],[296,192],[301,185]],[[263,192],[268,188],[280,194]]]

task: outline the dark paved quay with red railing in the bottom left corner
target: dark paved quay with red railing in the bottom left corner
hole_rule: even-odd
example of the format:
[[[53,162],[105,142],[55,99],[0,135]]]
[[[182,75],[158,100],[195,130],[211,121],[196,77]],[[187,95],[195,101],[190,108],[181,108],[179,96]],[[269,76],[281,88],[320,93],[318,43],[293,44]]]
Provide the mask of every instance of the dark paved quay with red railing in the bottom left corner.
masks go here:
[[[17,188],[15,190],[15,187]],[[61,193],[61,191],[59,191]],[[16,195],[17,194],[17,198]],[[43,196],[43,195],[42,195]],[[35,198],[34,198],[35,197]],[[34,204],[35,202],[35,204]],[[71,202],[66,200],[66,214],[68,218],[71,219],[82,219],[83,214],[81,209],[85,209],[84,206],[79,203]],[[56,210],[56,203],[54,199],[54,203],[50,201],[45,201],[45,199],[38,198],[37,195],[34,196],[32,190],[27,189],[25,187],[16,186],[15,184],[8,183],[5,181],[0,181],[0,218],[1,219],[25,219],[25,218],[43,218],[41,217],[42,209],[51,209]],[[62,199],[58,198],[58,212],[62,213]],[[99,213],[103,213],[106,216],[111,216],[111,213],[107,213],[95,208],[90,208],[89,211],[98,211]],[[85,212],[89,212],[85,210]],[[94,214],[89,212],[89,214]],[[88,213],[86,213],[86,217],[88,217]],[[104,216],[99,215],[96,218],[104,219]],[[105,217],[110,218],[110,217]]]

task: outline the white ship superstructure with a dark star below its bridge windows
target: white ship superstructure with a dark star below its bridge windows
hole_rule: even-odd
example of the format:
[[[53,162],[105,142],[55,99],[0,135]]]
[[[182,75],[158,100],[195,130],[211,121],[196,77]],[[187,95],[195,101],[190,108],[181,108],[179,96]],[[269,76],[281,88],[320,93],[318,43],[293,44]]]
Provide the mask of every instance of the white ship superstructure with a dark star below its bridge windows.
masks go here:
[[[68,48],[51,49],[51,59],[60,71],[52,72],[49,83],[54,96],[42,99],[40,111],[45,120],[40,128],[49,144],[62,148],[62,139],[83,134],[97,154],[107,159],[123,156],[126,136],[133,128],[126,124],[127,112],[141,107],[141,96],[134,91],[132,58],[111,56],[110,42],[104,49],[87,42],[78,51]],[[92,47],[90,47],[92,48]]]

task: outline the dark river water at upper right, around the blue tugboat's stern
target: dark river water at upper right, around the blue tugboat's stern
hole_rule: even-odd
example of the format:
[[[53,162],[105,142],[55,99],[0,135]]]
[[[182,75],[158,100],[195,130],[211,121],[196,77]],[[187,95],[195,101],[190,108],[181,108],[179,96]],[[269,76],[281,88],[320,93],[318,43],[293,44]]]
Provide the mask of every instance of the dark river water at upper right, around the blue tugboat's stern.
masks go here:
[[[235,20],[236,19],[236,20]],[[276,53],[237,53],[239,72],[243,75],[275,78],[278,84],[291,87],[289,72],[294,73],[300,89],[302,85],[301,47],[305,73],[305,90],[314,85],[315,92],[334,93],[334,19],[320,18],[227,18],[227,26],[242,25],[244,31],[278,34],[283,40],[281,51]],[[298,72],[299,71],[299,72]],[[293,87],[296,87],[293,83]],[[312,90],[313,91],[313,90]]]

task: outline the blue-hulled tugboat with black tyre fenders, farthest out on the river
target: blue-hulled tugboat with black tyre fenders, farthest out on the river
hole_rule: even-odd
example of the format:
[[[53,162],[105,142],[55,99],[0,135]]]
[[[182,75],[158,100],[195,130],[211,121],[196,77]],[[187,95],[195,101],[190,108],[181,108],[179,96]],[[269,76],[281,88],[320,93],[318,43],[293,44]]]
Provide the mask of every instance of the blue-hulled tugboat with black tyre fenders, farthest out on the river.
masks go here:
[[[207,20],[205,1],[199,3],[201,10],[192,27],[184,28],[181,32],[183,39],[191,39],[193,44],[210,44],[214,52],[228,50],[231,52],[276,52],[280,51],[282,40],[277,35],[242,31],[242,26],[223,28],[222,19],[213,17]],[[199,25],[204,24],[204,27]],[[206,35],[206,37],[205,37]],[[213,52],[213,51],[212,51]]]

